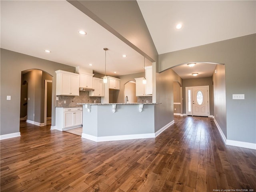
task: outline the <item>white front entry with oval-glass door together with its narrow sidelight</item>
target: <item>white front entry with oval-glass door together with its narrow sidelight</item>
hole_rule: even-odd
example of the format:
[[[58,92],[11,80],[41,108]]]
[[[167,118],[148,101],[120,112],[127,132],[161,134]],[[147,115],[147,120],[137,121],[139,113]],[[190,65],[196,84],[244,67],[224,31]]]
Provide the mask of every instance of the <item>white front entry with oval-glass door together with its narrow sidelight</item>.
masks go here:
[[[186,87],[186,113],[192,116],[209,115],[209,86]]]

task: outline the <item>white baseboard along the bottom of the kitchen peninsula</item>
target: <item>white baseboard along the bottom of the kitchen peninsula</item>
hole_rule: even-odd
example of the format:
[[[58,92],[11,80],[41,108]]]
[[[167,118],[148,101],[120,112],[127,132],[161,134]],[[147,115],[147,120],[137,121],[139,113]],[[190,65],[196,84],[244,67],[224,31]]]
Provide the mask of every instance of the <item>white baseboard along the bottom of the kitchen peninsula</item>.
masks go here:
[[[96,137],[89,134],[82,133],[82,138],[92,140],[95,142],[103,142],[103,141],[119,141],[119,140],[130,140],[130,139],[145,139],[145,138],[155,138],[154,133],[148,134],[134,134],[134,135],[116,135],[116,136],[103,136]]]

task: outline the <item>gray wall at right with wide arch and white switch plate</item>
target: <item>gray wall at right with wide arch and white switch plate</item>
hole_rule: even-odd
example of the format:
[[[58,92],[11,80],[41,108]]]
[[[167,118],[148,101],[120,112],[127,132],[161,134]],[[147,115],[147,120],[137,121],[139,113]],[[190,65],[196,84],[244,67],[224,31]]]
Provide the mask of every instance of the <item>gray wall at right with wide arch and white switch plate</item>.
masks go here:
[[[252,34],[159,55],[159,71],[186,62],[225,64],[228,140],[256,143],[255,42]],[[232,100],[232,94],[245,94],[245,100]]]

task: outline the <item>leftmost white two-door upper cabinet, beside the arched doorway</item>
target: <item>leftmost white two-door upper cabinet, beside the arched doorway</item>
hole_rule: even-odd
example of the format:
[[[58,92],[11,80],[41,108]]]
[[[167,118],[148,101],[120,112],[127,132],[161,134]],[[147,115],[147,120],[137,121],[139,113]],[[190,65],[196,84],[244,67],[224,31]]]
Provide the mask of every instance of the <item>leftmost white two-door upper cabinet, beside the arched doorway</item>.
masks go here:
[[[79,96],[79,74],[58,70],[56,72],[56,95]]]

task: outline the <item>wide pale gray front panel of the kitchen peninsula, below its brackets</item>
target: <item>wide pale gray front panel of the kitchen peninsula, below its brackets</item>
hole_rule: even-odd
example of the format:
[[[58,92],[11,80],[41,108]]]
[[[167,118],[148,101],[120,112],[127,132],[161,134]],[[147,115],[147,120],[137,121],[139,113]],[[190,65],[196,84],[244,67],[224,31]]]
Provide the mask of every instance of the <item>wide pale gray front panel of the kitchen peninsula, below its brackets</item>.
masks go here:
[[[135,134],[154,134],[154,105],[98,105],[98,137]]]

